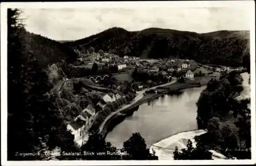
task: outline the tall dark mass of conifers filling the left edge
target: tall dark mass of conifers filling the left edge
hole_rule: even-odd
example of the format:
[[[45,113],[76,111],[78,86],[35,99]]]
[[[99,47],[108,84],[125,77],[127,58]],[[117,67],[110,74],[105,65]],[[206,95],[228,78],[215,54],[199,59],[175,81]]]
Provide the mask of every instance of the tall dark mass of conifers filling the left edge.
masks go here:
[[[58,110],[49,71],[45,63],[30,49],[19,11],[8,9],[8,160],[46,159],[44,156],[16,156],[16,152],[74,150],[74,141]],[[10,27],[10,28],[9,28]],[[48,57],[49,52],[42,52]],[[15,104],[13,104],[15,103]],[[60,136],[61,135],[61,136]],[[64,138],[64,139],[63,139]],[[47,148],[46,148],[47,146]],[[48,149],[49,148],[49,149]],[[67,150],[67,149],[66,149]]]

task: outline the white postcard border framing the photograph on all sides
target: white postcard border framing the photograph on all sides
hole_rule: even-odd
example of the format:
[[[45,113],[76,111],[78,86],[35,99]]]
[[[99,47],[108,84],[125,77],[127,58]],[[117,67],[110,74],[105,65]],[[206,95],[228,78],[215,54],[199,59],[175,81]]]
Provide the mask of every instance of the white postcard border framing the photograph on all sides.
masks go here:
[[[244,8],[251,11],[251,156],[250,160],[111,160],[111,161],[7,161],[7,8]],[[15,104],[15,103],[14,103]],[[176,1],[176,2],[38,2],[1,3],[1,160],[3,165],[188,165],[188,164],[253,164],[255,144],[255,4],[254,1]]]

